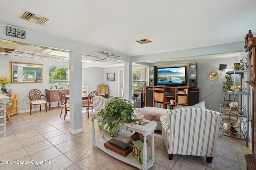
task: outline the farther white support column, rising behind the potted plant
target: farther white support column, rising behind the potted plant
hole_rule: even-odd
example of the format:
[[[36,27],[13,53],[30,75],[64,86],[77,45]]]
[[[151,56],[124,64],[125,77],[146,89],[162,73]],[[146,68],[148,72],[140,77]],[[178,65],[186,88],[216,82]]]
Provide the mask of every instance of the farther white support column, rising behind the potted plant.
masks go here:
[[[124,98],[132,102],[132,62],[124,62]]]

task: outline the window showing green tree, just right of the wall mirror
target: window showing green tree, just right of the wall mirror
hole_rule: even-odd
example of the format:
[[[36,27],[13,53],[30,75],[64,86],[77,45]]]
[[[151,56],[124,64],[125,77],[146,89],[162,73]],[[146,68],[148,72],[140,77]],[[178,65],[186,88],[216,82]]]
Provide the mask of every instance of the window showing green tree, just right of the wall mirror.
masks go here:
[[[68,67],[50,66],[49,71],[49,88],[54,88],[55,83],[58,83],[56,88],[67,88],[69,86]]]

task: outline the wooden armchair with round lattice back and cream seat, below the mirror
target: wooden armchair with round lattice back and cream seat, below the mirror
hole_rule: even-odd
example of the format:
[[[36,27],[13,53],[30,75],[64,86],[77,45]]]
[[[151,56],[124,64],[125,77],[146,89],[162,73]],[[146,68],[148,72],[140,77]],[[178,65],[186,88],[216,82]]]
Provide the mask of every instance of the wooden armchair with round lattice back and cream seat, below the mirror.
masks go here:
[[[41,97],[44,96],[45,100],[41,100]],[[40,105],[40,111],[41,111],[41,105],[45,104],[45,111],[47,112],[47,99],[46,96],[42,94],[42,92],[38,89],[33,89],[28,92],[28,98],[29,98],[29,105],[30,105],[30,115],[32,110],[32,105]]]

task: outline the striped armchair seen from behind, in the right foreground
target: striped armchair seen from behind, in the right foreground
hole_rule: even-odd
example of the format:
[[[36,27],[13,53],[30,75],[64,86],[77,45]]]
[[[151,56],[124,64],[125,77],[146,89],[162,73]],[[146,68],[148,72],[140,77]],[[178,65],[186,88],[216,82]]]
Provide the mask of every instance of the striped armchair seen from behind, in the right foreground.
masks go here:
[[[160,117],[162,137],[172,160],[173,154],[206,156],[212,163],[215,156],[222,115],[197,107],[180,108]]]

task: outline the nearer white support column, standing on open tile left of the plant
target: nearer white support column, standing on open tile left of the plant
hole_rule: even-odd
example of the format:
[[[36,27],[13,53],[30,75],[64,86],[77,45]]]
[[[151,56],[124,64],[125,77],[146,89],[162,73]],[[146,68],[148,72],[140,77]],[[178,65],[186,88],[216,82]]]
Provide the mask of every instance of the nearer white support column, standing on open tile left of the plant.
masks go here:
[[[79,48],[70,52],[70,133],[84,131],[82,117],[82,52]]]

